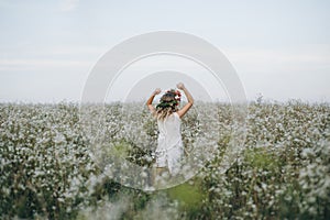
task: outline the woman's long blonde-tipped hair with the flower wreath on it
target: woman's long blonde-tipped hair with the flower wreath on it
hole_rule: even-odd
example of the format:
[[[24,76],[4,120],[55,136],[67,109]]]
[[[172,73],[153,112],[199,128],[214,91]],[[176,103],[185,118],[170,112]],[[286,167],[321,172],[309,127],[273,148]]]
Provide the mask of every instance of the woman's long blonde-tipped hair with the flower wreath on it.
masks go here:
[[[156,106],[156,118],[157,120],[163,121],[172,113],[178,111],[178,103],[180,101],[180,92],[174,89],[166,91],[162,96],[160,103]]]

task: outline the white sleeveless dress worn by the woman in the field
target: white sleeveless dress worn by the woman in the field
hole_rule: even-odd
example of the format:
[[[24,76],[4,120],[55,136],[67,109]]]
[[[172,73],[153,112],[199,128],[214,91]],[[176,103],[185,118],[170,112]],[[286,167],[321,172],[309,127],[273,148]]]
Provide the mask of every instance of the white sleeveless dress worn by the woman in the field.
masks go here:
[[[180,158],[184,155],[180,124],[182,120],[176,112],[165,118],[164,121],[157,120],[160,134],[155,152],[156,166],[167,167],[170,174],[178,172]]]

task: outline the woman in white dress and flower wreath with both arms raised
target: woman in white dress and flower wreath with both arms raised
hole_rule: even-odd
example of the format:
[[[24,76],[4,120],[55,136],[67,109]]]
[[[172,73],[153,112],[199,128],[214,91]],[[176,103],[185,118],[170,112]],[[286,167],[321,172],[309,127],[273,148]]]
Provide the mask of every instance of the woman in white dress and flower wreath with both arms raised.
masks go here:
[[[148,98],[146,106],[153,116],[157,119],[158,141],[156,155],[156,173],[161,174],[166,168],[170,174],[178,172],[178,164],[184,154],[184,146],[180,133],[180,119],[194,105],[194,99],[184,84],[179,82],[177,88],[183,90],[187,97],[188,103],[178,109],[180,102],[180,92],[177,90],[168,90],[161,98],[156,108],[152,102],[156,95],[161,94],[161,89],[155,89]]]

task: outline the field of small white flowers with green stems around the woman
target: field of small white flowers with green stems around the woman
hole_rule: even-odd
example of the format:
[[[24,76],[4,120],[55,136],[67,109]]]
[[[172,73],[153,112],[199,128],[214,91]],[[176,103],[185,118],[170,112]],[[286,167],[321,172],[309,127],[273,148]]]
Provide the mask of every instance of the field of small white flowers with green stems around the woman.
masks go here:
[[[152,166],[156,124],[141,107],[130,116],[120,103],[105,107],[99,136],[116,151],[96,162],[99,121],[81,123],[79,106],[1,103],[1,219],[330,219],[329,103],[251,102],[243,148],[226,172],[221,163],[239,129],[232,109],[213,103],[201,112],[197,105],[183,120],[184,143],[189,152],[198,134],[212,132],[212,160],[185,184],[152,193],[102,170],[107,154]],[[88,116],[98,114],[89,108]]]

